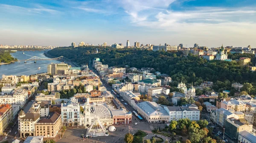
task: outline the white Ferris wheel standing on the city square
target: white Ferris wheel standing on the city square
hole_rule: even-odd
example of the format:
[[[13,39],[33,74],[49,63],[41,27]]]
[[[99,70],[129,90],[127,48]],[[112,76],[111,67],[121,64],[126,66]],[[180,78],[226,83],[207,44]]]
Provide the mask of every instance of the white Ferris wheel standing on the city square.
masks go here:
[[[106,136],[108,132],[106,131],[107,124],[103,124],[105,120],[111,119],[111,114],[108,108],[104,105],[92,105],[90,106],[90,118],[91,125],[88,127],[86,132],[86,137],[89,136]]]

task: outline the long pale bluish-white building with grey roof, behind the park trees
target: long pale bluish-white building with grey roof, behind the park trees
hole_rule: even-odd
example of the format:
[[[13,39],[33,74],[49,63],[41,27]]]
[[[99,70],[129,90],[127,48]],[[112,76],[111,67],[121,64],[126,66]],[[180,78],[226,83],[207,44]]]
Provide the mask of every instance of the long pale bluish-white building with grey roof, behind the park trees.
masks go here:
[[[200,110],[194,107],[164,106],[169,114],[169,122],[188,118],[189,120],[200,120]]]

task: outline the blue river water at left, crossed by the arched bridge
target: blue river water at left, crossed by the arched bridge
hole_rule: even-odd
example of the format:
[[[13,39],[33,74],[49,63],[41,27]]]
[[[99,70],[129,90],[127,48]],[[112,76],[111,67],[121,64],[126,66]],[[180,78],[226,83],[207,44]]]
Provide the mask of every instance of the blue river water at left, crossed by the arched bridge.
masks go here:
[[[25,54],[23,54],[23,52]],[[16,51],[15,53],[11,53],[12,57],[16,57],[18,60],[26,60],[31,57],[37,56],[42,58],[48,57],[44,56],[44,51]],[[61,63],[58,60],[37,60],[34,63],[33,60],[28,60],[27,63],[24,61],[10,63],[6,65],[0,65],[0,78],[2,75],[31,75],[47,72],[47,65],[50,63]],[[41,67],[41,69],[38,69]]]

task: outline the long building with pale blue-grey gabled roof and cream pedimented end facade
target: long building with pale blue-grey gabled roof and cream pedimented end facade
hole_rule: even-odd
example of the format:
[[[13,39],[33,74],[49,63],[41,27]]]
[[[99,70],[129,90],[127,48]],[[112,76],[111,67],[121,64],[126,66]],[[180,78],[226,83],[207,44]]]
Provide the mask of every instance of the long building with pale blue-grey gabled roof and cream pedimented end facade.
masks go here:
[[[137,104],[137,112],[141,114],[148,123],[169,122],[169,113],[155,102],[141,102]]]

